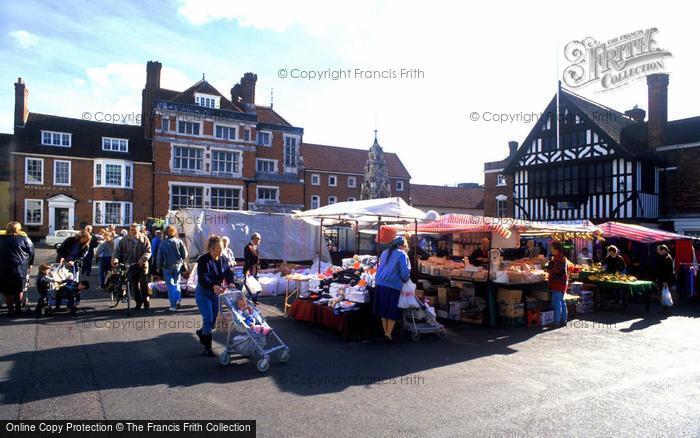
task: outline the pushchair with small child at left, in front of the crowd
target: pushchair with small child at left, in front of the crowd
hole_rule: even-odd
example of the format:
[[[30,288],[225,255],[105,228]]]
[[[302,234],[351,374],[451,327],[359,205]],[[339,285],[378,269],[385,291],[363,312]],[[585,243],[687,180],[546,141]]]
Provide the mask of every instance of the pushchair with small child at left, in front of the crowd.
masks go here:
[[[60,311],[64,298],[70,314],[75,315],[77,313],[78,304],[80,304],[80,293],[90,289],[90,283],[86,280],[75,281],[74,275],[63,263],[42,264],[39,266],[37,316]],[[54,306],[53,310],[50,307],[52,305]],[[44,306],[46,306],[45,311]]]

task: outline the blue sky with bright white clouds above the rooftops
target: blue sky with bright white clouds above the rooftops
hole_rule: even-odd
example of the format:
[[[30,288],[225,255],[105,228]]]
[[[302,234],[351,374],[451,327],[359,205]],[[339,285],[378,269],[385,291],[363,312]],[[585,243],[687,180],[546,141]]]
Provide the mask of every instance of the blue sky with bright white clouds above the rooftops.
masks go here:
[[[657,28],[658,46],[672,53],[669,119],[700,115],[696,16],[681,13],[688,5],[0,0],[0,132],[12,132],[18,77],[30,111],[133,122],[146,62],[158,60],[161,86],[175,90],[204,74],[228,96],[245,72],[256,73],[256,103],[274,96],[305,142],[369,148],[376,129],[413,183],[483,183],[483,163],[505,158],[508,141],[533,126],[493,114],[542,112],[571,41]],[[413,75],[402,78],[402,69]],[[647,108],[644,80],[576,92],[620,111]]]

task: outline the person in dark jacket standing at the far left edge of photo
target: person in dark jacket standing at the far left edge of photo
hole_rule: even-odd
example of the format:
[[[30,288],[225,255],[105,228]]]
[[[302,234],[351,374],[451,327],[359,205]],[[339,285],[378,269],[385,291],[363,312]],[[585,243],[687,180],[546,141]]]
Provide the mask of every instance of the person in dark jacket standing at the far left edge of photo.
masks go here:
[[[8,316],[22,312],[24,286],[34,264],[34,244],[22,232],[22,225],[12,221],[7,224],[6,234],[0,236],[0,288],[5,295]]]

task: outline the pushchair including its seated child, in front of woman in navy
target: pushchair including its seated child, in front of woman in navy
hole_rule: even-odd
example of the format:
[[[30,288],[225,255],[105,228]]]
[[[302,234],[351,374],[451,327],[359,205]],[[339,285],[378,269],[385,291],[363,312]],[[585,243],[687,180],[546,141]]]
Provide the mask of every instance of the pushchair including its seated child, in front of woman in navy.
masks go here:
[[[231,362],[231,354],[259,358],[257,368],[265,372],[270,367],[270,354],[279,351],[279,361],[289,359],[289,347],[280,339],[260,314],[255,305],[246,299],[243,292],[233,290],[219,295],[221,316],[228,320],[226,348],[219,355],[219,362]],[[274,346],[267,346],[268,336]],[[267,346],[267,348],[266,348]]]

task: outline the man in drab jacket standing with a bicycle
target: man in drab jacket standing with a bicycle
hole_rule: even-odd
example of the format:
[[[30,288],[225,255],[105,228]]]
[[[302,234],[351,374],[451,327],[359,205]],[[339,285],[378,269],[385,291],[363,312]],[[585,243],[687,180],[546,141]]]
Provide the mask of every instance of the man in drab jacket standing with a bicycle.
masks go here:
[[[127,272],[134,293],[135,308],[138,310],[151,307],[150,290],[146,275],[148,274],[148,259],[151,257],[151,242],[141,233],[139,224],[131,224],[129,234],[119,240],[114,248],[112,266],[119,263],[131,265]]]

